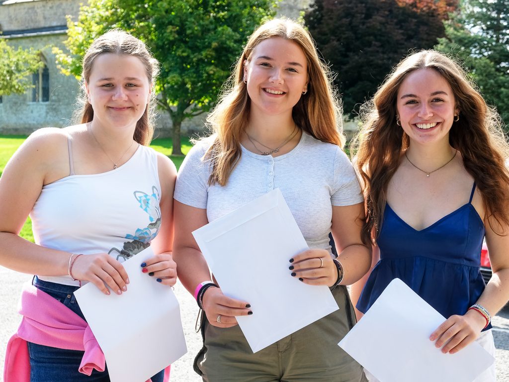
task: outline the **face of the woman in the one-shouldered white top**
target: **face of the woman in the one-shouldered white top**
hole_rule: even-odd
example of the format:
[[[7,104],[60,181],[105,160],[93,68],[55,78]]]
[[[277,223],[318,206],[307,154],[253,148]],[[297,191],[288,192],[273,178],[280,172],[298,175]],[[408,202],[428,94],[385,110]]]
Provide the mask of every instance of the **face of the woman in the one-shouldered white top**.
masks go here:
[[[133,130],[151,92],[143,63],[137,57],[115,53],[96,57],[86,89],[95,123]]]

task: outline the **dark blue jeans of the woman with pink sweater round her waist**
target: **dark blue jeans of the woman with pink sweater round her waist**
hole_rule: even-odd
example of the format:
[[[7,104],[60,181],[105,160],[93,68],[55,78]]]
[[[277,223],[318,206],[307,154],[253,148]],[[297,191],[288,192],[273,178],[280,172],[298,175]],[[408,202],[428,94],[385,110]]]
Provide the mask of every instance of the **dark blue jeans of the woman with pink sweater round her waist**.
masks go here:
[[[58,299],[67,308],[84,319],[78,306],[74,291],[78,287],[39,280],[34,277],[32,284]],[[94,370],[90,376],[78,371],[83,351],[67,350],[56,347],[28,343],[30,354],[31,382],[109,382],[108,369],[104,372]],[[126,367],[136,367],[136,360],[126,359]],[[152,382],[162,382],[164,370],[152,377]],[[140,381],[144,382],[144,381]]]

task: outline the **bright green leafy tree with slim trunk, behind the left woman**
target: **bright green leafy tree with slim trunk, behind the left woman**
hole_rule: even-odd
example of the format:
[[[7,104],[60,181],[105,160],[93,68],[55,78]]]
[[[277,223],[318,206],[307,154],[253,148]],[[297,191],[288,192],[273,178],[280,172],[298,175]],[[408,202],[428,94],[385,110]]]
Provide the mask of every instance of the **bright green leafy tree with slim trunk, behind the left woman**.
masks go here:
[[[173,154],[182,154],[182,121],[213,107],[247,37],[275,14],[274,0],[91,0],[69,20],[64,72],[79,78],[80,60],[97,36],[122,28],[139,37],[161,63],[158,105],[173,124]]]

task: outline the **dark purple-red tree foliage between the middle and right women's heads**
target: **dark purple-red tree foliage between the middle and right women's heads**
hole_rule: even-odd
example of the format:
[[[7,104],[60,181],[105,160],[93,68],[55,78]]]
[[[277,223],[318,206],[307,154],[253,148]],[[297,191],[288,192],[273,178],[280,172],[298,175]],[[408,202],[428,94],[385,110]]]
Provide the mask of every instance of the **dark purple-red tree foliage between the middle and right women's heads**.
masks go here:
[[[336,75],[344,111],[376,92],[410,50],[432,48],[456,0],[316,0],[304,16]]]

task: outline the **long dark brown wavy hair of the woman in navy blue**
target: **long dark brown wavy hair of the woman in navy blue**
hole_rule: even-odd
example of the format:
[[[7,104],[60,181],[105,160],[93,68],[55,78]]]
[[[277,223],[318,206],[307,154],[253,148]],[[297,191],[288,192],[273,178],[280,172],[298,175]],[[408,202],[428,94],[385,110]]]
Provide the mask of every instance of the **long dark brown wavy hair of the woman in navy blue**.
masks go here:
[[[387,76],[373,99],[361,107],[361,129],[352,145],[364,181],[366,225],[363,236],[376,241],[381,228],[389,180],[409,146],[408,135],[396,124],[397,94],[409,73],[432,68],[453,90],[460,119],[453,122],[449,143],[463,155],[463,164],[483,196],[488,219],[509,224],[509,147],[496,111],[454,59],[435,50],[410,54]],[[502,234],[502,232],[497,232]]]

